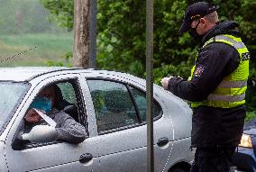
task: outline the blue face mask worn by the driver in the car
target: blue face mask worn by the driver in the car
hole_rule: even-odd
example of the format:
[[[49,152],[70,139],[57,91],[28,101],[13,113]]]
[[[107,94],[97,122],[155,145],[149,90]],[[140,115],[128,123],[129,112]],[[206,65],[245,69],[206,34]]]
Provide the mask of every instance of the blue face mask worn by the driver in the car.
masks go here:
[[[29,109],[32,108],[43,110],[46,114],[49,114],[52,108],[51,101],[44,96],[36,96],[29,107]]]

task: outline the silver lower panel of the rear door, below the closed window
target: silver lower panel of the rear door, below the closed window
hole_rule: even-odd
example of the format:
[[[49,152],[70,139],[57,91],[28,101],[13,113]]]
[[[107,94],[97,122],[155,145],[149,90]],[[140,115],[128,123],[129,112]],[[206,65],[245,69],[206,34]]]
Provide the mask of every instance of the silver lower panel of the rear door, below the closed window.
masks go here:
[[[154,155],[156,159],[168,159],[172,149],[172,144],[169,142],[162,147],[159,147],[156,143],[160,138],[172,136],[171,126],[163,129],[165,131],[158,127],[159,123],[165,125],[165,122],[169,122],[169,120],[161,118],[154,123]],[[140,135],[138,136],[138,134]],[[116,144],[117,142],[118,144]],[[116,131],[102,135],[99,141],[99,159],[101,167],[103,167],[101,169],[104,171],[105,165],[113,164],[115,166],[108,166],[107,169],[118,171],[120,167],[123,167],[123,169],[134,168],[133,171],[146,171],[146,146],[146,125],[131,128],[129,131]],[[133,164],[133,158],[136,158],[135,164]],[[166,161],[163,160],[158,161],[155,164],[155,170],[162,171],[165,163]]]

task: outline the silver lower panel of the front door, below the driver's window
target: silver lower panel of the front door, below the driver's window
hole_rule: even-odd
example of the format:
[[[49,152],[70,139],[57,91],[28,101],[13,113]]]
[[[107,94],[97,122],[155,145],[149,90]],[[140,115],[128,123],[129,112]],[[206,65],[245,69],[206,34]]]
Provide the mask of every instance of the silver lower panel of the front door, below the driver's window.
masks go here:
[[[24,150],[5,149],[7,165],[10,172],[45,168],[48,171],[62,171],[64,164],[73,171],[98,170],[96,142],[97,140],[87,139],[78,145],[63,142]],[[94,158],[87,163],[80,163],[79,157],[85,153],[91,153]]]

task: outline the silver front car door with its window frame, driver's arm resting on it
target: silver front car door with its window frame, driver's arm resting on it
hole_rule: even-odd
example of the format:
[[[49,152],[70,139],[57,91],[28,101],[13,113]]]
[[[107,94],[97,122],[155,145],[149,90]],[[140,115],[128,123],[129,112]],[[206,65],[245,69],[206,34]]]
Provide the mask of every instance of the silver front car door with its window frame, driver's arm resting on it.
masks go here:
[[[68,80],[73,83],[74,89],[77,92],[70,94],[76,96],[79,102],[83,102],[81,91],[79,90],[79,75],[67,74],[59,75],[58,77],[48,77],[46,79],[39,78],[32,81],[40,83],[35,86],[26,96],[26,101],[22,104],[23,108],[14,116],[13,123],[9,134],[6,138],[5,158],[10,172],[16,171],[97,171],[97,145],[96,138],[89,138],[79,144],[71,144],[64,141],[53,141],[50,143],[39,143],[30,145],[25,149],[14,149],[12,143],[15,139],[15,134],[20,130],[20,125],[23,122],[23,116],[27,112],[28,107],[32,104],[32,99],[39,93],[43,86]],[[73,86],[72,85],[72,86]],[[65,86],[64,86],[65,87]],[[68,88],[69,89],[69,86]],[[64,89],[65,90],[65,89]],[[68,90],[70,93],[71,90]],[[71,91],[72,92],[72,91]],[[69,96],[69,95],[68,95]],[[72,96],[71,96],[72,97]],[[85,115],[85,109],[78,105],[79,115]],[[81,117],[80,118],[80,122]],[[85,122],[83,122],[85,124]],[[89,134],[88,134],[89,135]]]

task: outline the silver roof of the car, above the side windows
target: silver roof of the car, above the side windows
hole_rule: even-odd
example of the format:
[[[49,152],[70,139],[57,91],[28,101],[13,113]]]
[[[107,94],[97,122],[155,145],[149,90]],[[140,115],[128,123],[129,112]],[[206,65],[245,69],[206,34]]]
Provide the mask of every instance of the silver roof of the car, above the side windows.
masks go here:
[[[133,75],[115,71],[107,70],[95,70],[92,68],[67,68],[67,67],[16,67],[16,68],[0,68],[0,81],[14,81],[23,82],[30,81],[34,77],[39,77],[44,74],[54,73],[59,71],[76,70],[78,72],[95,73],[95,74],[106,74],[115,75],[133,79],[136,82],[141,83],[142,78],[134,77]]]

